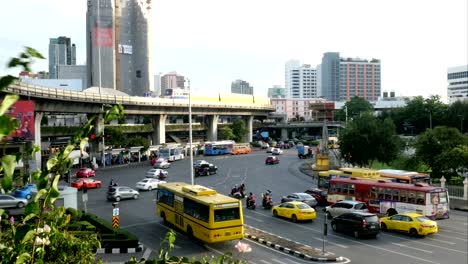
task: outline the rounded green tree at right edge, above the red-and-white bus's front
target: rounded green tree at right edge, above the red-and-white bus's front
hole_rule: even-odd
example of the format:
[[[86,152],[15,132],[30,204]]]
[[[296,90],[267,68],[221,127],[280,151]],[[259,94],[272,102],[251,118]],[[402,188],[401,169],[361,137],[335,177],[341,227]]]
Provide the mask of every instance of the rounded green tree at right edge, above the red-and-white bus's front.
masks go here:
[[[432,170],[431,176],[447,179],[457,175],[457,170],[468,167],[468,137],[456,128],[436,127],[419,135],[416,157]]]

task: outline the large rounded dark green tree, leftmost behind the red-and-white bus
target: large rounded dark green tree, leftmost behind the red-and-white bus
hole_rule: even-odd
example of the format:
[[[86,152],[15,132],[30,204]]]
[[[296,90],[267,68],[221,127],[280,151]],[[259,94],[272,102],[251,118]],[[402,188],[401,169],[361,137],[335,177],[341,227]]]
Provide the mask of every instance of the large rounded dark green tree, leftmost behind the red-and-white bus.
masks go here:
[[[356,116],[340,134],[341,156],[353,165],[371,167],[375,160],[389,164],[400,149],[393,121],[379,120],[369,112]]]

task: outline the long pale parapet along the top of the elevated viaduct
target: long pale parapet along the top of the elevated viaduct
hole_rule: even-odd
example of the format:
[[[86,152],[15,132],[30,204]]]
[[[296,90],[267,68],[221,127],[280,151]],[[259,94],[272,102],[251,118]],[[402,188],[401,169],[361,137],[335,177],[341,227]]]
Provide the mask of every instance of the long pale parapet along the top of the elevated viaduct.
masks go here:
[[[169,98],[153,98],[140,96],[120,96],[107,95],[97,93],[84,93],[71,90],[63,90],[56,88],[40,87],[27,83],[14,83],[5,89],[6,92],[20,94],[31,97],[50,98],[57,100],[69,100],[79,102],[96,102],[108,104],[123,104],[123,105],[148,105],[148,106],[179,106],[187,107],[188,99],[169,99]],[[274,110],[269,104],[255,103],[232,103],[232,102],[215,102],[215,101],[195,101],[193,107],[208,107],[208,108],[242,108],[252,110]]]

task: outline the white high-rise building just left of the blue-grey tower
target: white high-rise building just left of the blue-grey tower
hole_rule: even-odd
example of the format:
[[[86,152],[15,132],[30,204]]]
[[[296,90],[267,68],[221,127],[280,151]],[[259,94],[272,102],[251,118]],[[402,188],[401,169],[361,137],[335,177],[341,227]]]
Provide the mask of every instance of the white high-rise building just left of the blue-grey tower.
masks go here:
[[[317,70],[309,64],[300,65],[297,60],[286,62],[285,82],[289,98],[317,97]]]

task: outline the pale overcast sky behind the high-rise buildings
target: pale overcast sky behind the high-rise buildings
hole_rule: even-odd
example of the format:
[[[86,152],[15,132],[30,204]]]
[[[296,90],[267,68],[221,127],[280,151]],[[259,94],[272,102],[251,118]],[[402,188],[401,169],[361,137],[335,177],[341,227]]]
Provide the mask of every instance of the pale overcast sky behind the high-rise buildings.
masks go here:
[[[2,1],[0,75],[23,46],[48,56],[67,36],[86,60],[86,0]],[[201,94],[248,81],[284,86],[289,59],[324,52],[381,60],[382,91],[446,98],[447,68],[468,64],[467,0],[152,0],[154,74],[177,71]],[[47,60],[33,65],[48,70]],[[17,71],[8,72],[17,74]]]

